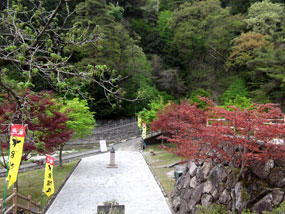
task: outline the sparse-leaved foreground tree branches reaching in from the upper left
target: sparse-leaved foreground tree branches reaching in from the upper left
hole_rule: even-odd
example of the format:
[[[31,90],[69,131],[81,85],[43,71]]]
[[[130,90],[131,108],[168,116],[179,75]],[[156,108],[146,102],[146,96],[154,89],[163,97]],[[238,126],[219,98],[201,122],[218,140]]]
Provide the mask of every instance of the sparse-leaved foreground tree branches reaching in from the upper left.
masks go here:
[[[59,0],[52,11],[46,10],[42,1],[31,1],[27,10],[22,1],[12,1],[11,7],[0,17],[0,86],[17,103],[15,90],[34,88],[41,79],[61,94],[81,94],[82,88],[93,83],[107,93],[116,94],[116,77],[105,67],[92,64],[77,67],[65,48],[81,47],[99,39],[90,25],[81,28],[80,23],[67,25],[72,12],[65,5],[66,21],[59,23],[59,10],[64,1]],[[111,91],[112,89],[112,91]],[[118,93],[117,93],[118,95]],[[19,108],[21,106],[19,105]]]

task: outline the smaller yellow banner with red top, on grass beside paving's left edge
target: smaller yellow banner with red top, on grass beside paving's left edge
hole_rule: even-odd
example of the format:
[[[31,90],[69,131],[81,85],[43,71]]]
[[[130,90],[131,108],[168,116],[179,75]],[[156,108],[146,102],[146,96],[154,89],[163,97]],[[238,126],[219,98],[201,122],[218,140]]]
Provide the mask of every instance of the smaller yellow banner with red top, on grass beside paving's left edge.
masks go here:
[[[54,158],[47,156],[46,168],[45,168],[45,181],[43,189],[47,197],[50,197],[54,193],[53,164],[54,164]]]

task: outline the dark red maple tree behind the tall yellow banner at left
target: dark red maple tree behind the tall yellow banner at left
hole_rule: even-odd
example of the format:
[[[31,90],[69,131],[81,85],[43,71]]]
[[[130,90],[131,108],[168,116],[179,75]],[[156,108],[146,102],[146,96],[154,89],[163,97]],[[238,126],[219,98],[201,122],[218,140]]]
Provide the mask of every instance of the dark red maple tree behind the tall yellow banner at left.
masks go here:
[[[21,94],[17,102],[2,95],[0,102],[0,152],[1,166],[6,166],[4,158],[9,147],[9,125],[25,124],[27,133],[23,148],[23,160],[27,160],[31,152],[47,154],[72,137],[73,130],[67,128],[68,116],[60,113],[59,104],[52,92],[32,92],[27,90]],[[19,107],[20,106],[20,107]]]

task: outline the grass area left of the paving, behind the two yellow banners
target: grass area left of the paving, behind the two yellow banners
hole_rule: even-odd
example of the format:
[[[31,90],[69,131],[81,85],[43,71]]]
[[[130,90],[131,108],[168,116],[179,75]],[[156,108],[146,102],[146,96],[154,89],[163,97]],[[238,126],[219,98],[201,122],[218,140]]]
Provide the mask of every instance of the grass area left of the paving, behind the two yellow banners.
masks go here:
[[[55,183],[55,192],[58,190],[60,185],[63,183],[65,178],[69,175],[73,167],[77,164],[78,161],[73,161],[64,164],[62,167],[54,166],[53,176]],[[44,179],[44,168],[37,169],[30,172],[20,173],[18,175],[18,186],[19,193],[23,196],[32,196],[32,200],[36,203],[41,201],[41,193],[43,188],[43,179]],[[0,178],[0,198],[4,196],[5,189],[5,178]],[[7,191],[7,196],[12,193],[13,186]],[[44,196],[43,206],[48,202],[48,198]]]

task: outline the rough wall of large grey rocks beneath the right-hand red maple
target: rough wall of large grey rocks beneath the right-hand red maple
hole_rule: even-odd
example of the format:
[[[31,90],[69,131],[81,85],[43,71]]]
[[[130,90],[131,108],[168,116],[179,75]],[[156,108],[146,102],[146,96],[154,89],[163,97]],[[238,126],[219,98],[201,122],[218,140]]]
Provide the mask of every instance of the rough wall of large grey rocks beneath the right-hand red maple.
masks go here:
[[[197,205],[211,203],[224,205],[231,210],[231,176],[224,165],[208,162],[188,162],[177,180],[171,199],[175,213],[195,214]],[[285,161],[268,161],[252,164],[235,186],[235,208],[255,210],[257,214],[272,210],[284,200]]]

